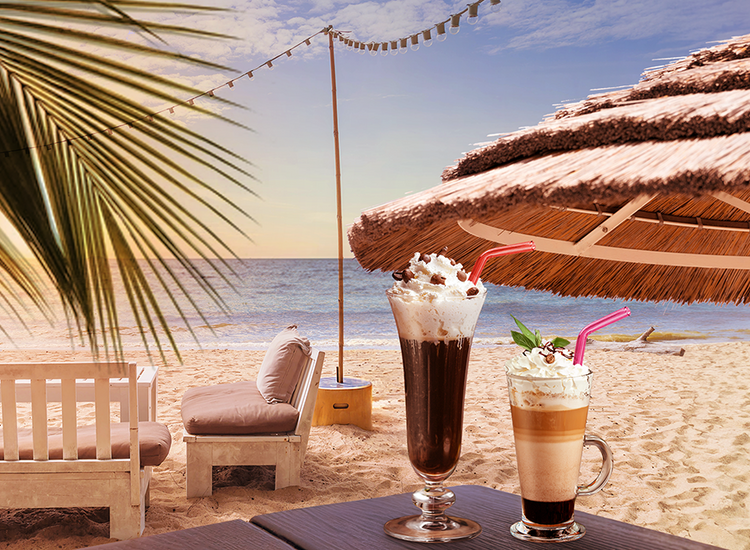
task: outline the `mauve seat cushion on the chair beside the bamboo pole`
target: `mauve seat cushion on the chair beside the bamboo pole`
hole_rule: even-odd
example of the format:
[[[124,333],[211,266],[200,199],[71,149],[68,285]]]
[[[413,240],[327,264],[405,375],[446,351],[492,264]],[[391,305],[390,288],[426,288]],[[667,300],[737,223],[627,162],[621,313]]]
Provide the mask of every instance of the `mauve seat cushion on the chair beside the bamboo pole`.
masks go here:
[[[287,433],[298,416],[288,403],[267,403],[252,380],[190,388],[182,397],[182,423],[193,435]]]

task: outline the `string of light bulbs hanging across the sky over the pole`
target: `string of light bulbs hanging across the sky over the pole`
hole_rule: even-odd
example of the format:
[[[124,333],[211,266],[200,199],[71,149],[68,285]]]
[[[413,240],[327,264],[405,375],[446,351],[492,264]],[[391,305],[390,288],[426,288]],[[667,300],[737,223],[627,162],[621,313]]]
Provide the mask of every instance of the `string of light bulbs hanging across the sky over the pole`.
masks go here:
[[[497,11],[500,8],[501,0],[477,0],[471,4],[467,4],[466,8],[464,8],[462,11],[452,14],[448,19],[444,21],[440,21],[422,31],[419,31],[417,33],[410,34],[407,36],[403,36],[395,40],[385,40],[385,41],[369,40],[365,42],[365,41],[349,38],[347,36],[351,34],[349,31],[338,31],[338,30],[333,29],[333,26],[324,27],[318,32],[308,36],[304,40],[295,44],[294,46],[287,48],[279,55],[264,61],[263,63],[255,67],[254,69],[241,73],[240,75],[232,78],[231,80],[228,80],[218,86],[215,86],[214,88],[211,88],[209,90],[206,90],[205,92],[201,92],[193,97],[190,97],[184,101],[181,101],[180,103],[176,103],[174,105],[165,107],[158,111],[153,111],[147,115],[144,115],[140,118],[135,118],[129,122],[123,122],[121,124],[117,124],[108,128],[104,128],[102,130],[98,130],[95,132],[89,132],[89,133],[82,134],[79,136],[64,138],[59,141],[47,143],[44,145],[36,145],[36,146],[24,147],[21,149],[16,149],[16,150],[11,150],[11,151],[4,151],[4,155],[6,157],[9,157],[12,153],[30,154],[32,149],[41,149],[43,147],[47,149],[51,149],[54,145],[59,145],[63,143],[70,145],[71,142],[73,141],[82,140],[82,139],[93,139],[97,135],[103,135],[103,134],[112,135],[117,130],[121,130],[124,128],[134,128],[135,125],[139,122],[153,122],[154,117],[158,115],[163,115],[165,113],[174,114],[175,109],[177,108],[185,107],[185,106],[193,107],[195,105],[196,100],[203,98],[203,97],[214,97],[216,94],[216,91],[224,87],[234,88],[235,82],[241,79],[245,79],[245,78],[252,79],[254,77],[254,73],[256,73],[257,71],[263,68],[273,69],[274,62],[278,61],[279,59],[286,59],[286,58],[292,57],[292,52],[295,49],[303,45],[310,46],[312,43],[312,40],[320,34],[327,35],[330,33],[334,38],[337,38],[339,42],[343,43],[347,50],[353,50],[360,54],[369,52],[370,55],[373,55],[373,56],[377,55],[378,53],[384,56],[388,55],[389,53],[391,55],[396,55],[398,53],[406,53],[409,49],[411,49],[412,51],[416,51],[419,49],[420,38],[421,38],[422,44],[424,46],[429,47],[430,45],[432,45],[433,40],[437,40],[438,42],[444,41],[447,38],[447,33],[457,34],[459,31],[461,17],[463,17],[464,15],[467,15],[468,24],[470,25],[475,24],[479,20],[479,5],[485,1],[489,1],[490,9],[492,11]],[[434,31],[434,35],[433,35],[433,31]]]

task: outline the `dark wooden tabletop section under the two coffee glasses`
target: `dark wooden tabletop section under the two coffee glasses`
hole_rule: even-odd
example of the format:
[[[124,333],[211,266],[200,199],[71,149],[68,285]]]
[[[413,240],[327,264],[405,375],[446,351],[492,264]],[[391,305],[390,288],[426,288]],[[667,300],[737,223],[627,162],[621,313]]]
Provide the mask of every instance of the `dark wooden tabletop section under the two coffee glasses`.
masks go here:
[[[470,540],[450,543],[451,549],[528,550],[533,543],[513,538],[510,525],[521,518],[521,498],[480,485],[451,487],[456,504],[449,515],[478,521],[482,533]],[[252,518],[252,522],[303,550],[353,550],[417,548],[418,543],[389,537],[383,524],[392,518],[416,513],[411,493],[274,512]],[[566,542],[566,550],[708,550],[717,548],[659,531],[645,529],[576,512],[586,535]]]

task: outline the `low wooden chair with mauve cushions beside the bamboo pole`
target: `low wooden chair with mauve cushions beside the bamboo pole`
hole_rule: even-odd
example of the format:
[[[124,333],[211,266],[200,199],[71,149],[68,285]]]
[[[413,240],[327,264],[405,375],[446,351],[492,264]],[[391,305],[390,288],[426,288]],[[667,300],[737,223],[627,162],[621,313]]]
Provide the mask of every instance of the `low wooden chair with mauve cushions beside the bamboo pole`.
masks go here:
[[[182,399],[187,496],[212,493],[213,466],[276,466],[275,488],[299,485],[325,354],[290,327],[256,381],[191,388]]]

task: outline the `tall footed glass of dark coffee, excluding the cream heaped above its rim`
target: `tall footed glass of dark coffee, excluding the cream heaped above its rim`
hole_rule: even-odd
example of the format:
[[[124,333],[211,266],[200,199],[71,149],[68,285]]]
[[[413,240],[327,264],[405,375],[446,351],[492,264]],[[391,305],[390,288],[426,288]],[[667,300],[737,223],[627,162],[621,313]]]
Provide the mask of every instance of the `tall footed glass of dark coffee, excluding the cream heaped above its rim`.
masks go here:
[[[404,365],[409,461],[425,487],[412,496],[421,514],[390,520],[385,531],[415,542],[472,538],[482,528],[446,514],[456,497],[444,483],[461,455],[469,354],[486,291],[432,301],[386,295]]]

